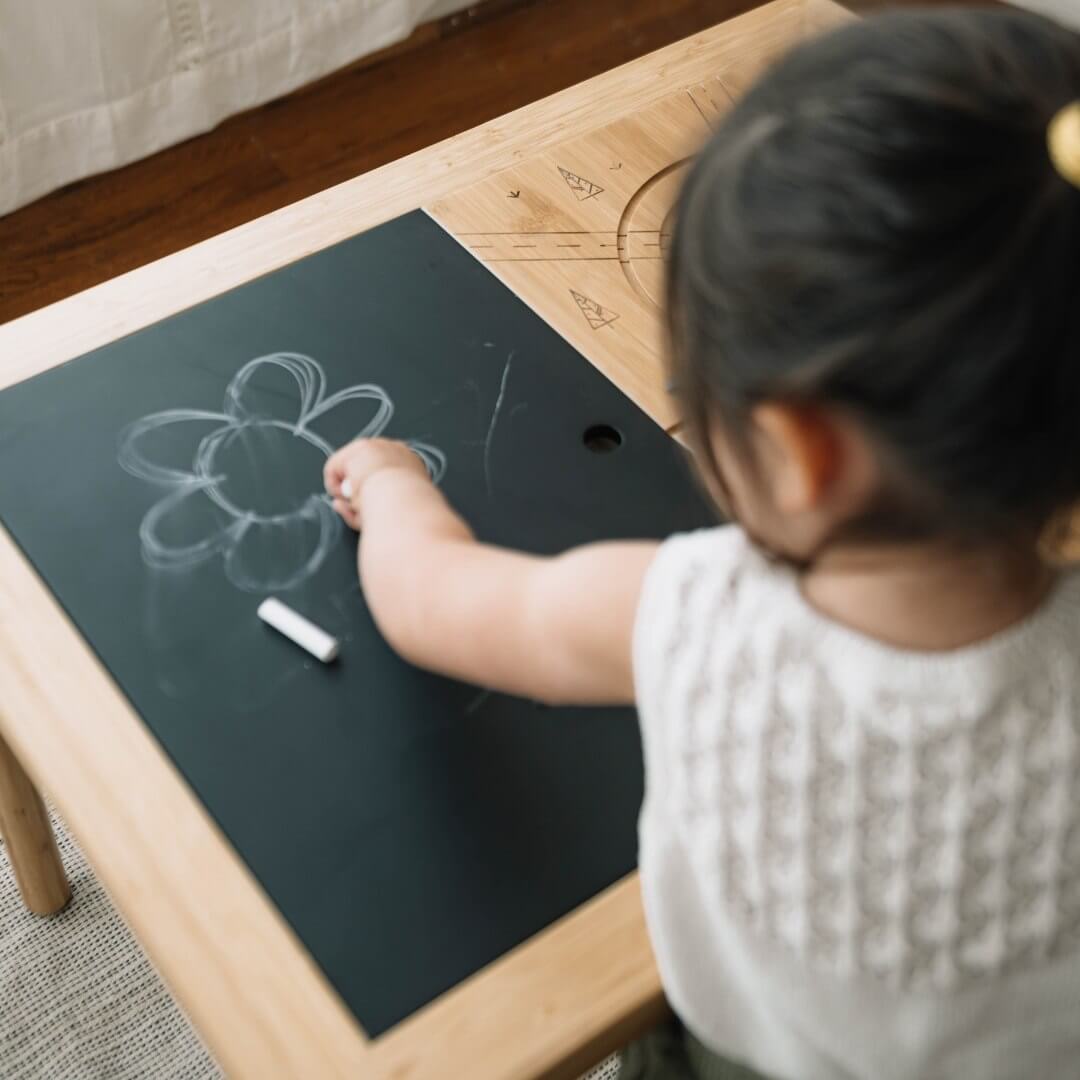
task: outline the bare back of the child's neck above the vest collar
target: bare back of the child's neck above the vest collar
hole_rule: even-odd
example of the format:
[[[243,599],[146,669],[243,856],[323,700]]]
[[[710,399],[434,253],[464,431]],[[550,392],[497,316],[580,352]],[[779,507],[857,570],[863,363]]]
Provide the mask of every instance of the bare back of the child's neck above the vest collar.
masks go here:
[[[1054,571],[1035,550],[941,542],[843,545],[801,578],[823,615],[902,649],[961,648],[1030,615]]]

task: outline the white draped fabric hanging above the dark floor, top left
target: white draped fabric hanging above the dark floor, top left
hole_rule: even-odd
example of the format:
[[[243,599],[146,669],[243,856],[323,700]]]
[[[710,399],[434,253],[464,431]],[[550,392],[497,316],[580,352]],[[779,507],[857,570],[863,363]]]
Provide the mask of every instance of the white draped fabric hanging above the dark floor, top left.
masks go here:
[[[465,6],[0,0],[0,214],[205,132]]]

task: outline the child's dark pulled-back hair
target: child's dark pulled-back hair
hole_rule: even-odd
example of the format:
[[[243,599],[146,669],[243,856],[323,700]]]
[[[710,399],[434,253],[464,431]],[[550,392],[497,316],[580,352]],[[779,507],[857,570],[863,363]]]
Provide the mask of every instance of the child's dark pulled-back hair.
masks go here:
[[[762,401],[854,417],[861,535],[1003,536],[1080,500],[1080,36],[1008,9],[853,22],[778,63],[680,197],[673,381],[706,461]]]

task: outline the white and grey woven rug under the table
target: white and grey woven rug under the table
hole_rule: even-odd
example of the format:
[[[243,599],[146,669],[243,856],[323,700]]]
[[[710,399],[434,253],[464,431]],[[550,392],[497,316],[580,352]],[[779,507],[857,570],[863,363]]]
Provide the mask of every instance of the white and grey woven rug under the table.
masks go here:
[[[52,918],[23,907],[0,845],[0,1077],[218,1080],[221,1070],[55,813],[53,828],[72,897]],[[582,1080],[618,1075],[611,1057]]]

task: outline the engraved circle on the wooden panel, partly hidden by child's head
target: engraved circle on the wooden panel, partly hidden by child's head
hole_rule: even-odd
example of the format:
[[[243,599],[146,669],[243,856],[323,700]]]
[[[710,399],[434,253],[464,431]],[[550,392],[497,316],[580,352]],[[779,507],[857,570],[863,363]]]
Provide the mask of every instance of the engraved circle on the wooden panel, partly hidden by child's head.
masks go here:
[[[664,262],[671,246],[674,206],[690,160],[672,162],[631,197],[619,221],[619,261],[634,292],[658,311],[663,307]]]

